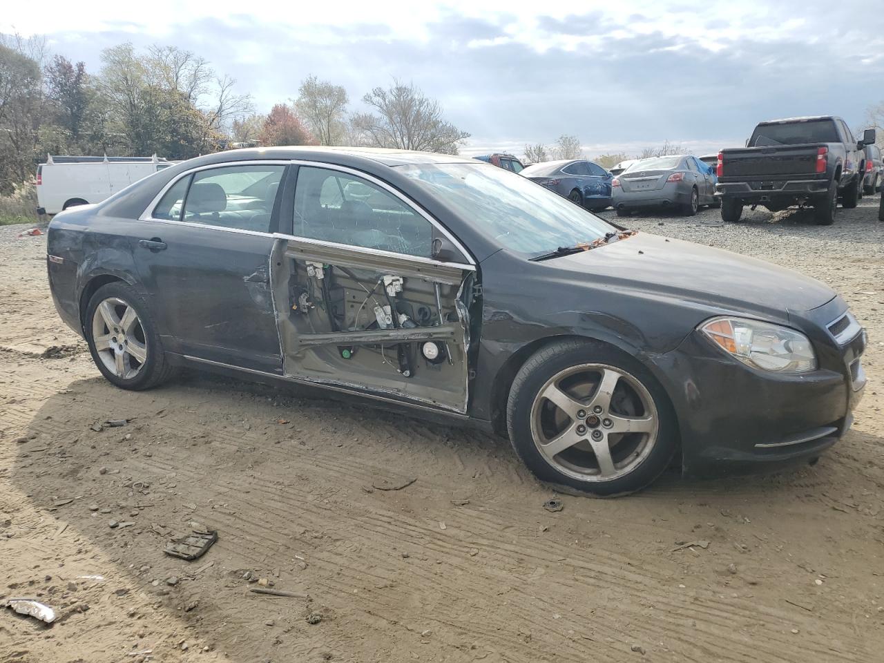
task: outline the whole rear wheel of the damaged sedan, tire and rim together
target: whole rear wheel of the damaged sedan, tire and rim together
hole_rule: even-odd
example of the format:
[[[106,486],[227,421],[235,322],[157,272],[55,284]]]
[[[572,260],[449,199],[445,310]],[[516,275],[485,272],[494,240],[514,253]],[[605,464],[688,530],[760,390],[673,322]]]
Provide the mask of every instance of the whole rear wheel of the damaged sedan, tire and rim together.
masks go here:
[[[98,288],[86,308],[84,327],[92,360],[111,384],[139,391],[171,376],[148,306],[132,287],[109,283]]]

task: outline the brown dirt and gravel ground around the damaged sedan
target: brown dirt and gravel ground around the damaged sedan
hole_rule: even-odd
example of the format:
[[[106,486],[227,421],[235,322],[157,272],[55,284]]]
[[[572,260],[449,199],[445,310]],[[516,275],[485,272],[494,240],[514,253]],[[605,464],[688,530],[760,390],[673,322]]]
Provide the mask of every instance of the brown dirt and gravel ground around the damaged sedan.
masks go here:
[[[868,328],[869,384],[814,467],[664,476],[627,498],[561,496],[559,513],[506,441],[475,431],[196,373],[113,388],[56,316],[45,237],[0,228],[0,598],[59,614],[0,610],[0,660],[884,660],[876,204],[828,228],[794,211],[629,219],[826,280]],[[128,423],[93,430],[112,419]],[[217,544],[165,555],[190,522]]]

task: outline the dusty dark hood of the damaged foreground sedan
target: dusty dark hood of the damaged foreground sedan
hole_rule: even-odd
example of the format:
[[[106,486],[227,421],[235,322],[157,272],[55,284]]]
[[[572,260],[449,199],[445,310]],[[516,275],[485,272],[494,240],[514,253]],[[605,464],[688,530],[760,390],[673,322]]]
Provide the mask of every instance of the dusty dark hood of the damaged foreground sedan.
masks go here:
[[[591,251],[553,258],[553,269],[591,278],[597,286],[661,293],[724,309],[782,315],[816,309],[834,291],[816,280],[772,263],[639,232]]]

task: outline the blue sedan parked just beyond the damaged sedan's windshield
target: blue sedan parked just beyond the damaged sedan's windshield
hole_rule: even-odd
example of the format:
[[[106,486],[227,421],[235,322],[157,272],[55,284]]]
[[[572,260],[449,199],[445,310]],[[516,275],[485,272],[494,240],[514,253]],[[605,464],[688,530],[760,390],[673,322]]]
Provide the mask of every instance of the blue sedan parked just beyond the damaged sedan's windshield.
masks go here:
[[[545,161],[527,166],[522,171],[522,176],[589,210],[604,210],[611,206],[613,176],[591,161]]]

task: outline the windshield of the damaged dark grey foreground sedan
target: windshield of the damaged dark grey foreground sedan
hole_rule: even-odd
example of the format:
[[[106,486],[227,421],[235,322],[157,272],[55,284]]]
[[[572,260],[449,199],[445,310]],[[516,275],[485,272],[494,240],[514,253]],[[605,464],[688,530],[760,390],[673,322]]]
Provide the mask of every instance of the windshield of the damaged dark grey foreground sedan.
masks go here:
[[[486,237],[526,256],[573,247],[616,232],[567,198],[492,165],[420,164],[398,169]]]

